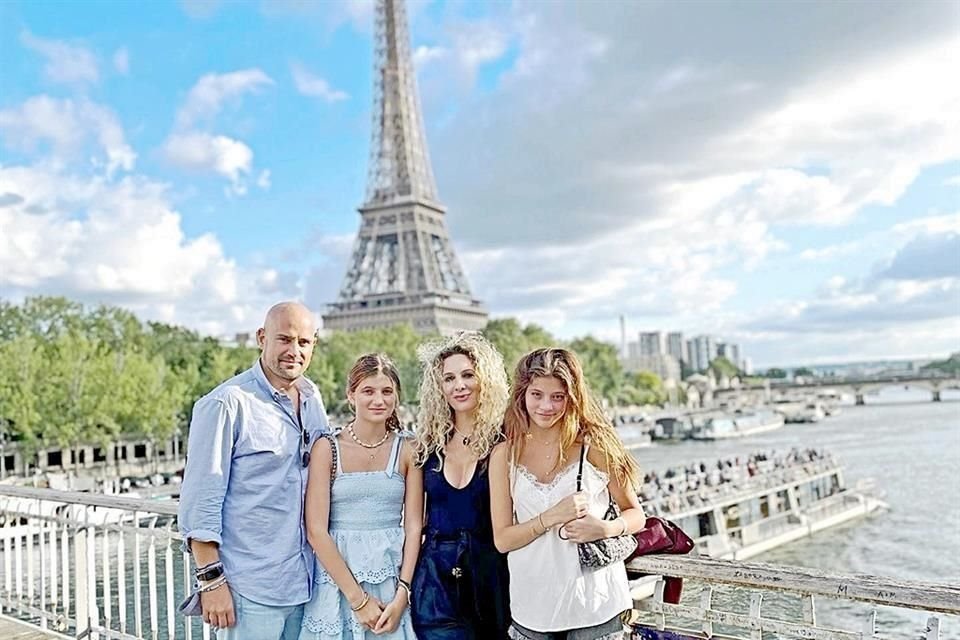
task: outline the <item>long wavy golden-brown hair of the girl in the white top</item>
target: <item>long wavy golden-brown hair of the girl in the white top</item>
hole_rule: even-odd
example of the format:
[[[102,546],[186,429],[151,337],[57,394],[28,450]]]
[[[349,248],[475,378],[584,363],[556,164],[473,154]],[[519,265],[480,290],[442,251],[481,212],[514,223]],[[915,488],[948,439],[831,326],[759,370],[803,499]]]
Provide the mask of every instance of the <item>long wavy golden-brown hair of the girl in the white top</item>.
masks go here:
[[[530,433],[527,388],[534,378],[550,376],[563,384],[567,394],[567,404],[559,420],[560,455],[554,470],[564,466],[564,453],[574,442],[589,443],[603,454],[607,469],[618,484],[636,489],[640,480],[640,467],[627,453],[620,436],[590,392],[577,356],[567,349],[537,349],[517,363],[510,391],[510,404],[503,419],[507,442],[510,443],[510,459],[514,463],[520,460]]]

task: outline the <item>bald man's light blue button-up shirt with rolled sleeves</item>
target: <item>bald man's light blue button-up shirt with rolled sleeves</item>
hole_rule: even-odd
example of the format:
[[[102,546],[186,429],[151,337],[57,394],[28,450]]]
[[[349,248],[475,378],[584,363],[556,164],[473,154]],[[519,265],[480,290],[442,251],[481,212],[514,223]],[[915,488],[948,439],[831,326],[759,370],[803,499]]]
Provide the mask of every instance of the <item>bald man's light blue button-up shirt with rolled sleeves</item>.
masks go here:
[[[313,582],[300,423],[311,445],[329,426],[317,387],[300,378],[297,388],[300,422],[259,360],[200,398],[180,492],[184,540],[219,544],[230,587],[272,606],[307,602]]]

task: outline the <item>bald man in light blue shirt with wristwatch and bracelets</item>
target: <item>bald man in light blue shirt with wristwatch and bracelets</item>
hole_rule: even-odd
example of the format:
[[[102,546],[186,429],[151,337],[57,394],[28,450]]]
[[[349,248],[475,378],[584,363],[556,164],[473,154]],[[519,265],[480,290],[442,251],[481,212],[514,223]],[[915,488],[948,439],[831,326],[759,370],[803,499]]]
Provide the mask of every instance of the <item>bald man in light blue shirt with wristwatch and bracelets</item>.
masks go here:
[[[296,638],[313,584],[303,496],[310,446],[328,429],[320,392],[303,375],[313,314],[275,305],[257,344],[250,369],[194,405],[180,493],[203,619],[219,640]]]

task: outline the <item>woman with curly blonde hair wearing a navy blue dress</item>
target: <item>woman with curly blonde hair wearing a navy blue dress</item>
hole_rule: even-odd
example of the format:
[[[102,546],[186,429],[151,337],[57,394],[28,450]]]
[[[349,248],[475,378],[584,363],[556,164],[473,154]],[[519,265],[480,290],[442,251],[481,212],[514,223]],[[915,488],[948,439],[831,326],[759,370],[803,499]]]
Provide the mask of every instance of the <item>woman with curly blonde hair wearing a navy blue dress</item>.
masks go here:
[[[415,450],[426,509],[413,626],[420,640],[502,640],[509,580],[493,545],[487,461],[503,438],[503,357],[476,332],[428,344],[419,356]]]

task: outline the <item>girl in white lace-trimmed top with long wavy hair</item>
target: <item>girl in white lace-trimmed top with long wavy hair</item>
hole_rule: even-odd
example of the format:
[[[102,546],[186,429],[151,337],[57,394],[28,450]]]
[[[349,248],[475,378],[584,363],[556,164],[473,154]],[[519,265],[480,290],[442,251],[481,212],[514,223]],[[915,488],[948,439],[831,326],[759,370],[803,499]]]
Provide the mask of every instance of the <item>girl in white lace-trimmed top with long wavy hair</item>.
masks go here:
[[[538,349],[520,360],[504,428],[506,441],[490,460],[490,503],[494,543],[510,566],[510,637],[622,638],[620,614],[632,606],[623,563],[583,568],[577,543],[643,527],[639,468],[591,397],[572,352]],[[610,496],[621,516],[603,520]]]

